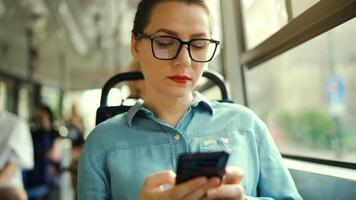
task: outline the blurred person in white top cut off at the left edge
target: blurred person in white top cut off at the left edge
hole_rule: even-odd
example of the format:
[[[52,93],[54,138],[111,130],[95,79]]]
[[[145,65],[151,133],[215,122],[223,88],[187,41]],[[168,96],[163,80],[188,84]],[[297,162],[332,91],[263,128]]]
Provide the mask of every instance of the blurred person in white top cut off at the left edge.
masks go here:
[[[25,121],[0,112],[0,199],[26,200],[22,169],[33,167],[33,144]]]

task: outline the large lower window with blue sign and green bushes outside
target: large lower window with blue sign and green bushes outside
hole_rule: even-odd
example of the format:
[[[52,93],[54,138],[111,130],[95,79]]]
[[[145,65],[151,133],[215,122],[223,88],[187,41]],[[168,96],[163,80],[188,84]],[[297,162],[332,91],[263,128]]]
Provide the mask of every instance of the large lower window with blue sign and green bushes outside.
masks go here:
[[[356,18],[246,71],[282,153],[356,163]]]

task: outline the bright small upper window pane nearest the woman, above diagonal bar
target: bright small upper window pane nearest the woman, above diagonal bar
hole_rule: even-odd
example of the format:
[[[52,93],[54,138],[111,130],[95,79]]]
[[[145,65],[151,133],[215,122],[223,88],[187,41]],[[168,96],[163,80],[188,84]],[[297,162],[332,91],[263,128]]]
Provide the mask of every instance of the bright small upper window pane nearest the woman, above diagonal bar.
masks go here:
[[[285,1],[242,0],[246,48],[252,49],[288,22]]]

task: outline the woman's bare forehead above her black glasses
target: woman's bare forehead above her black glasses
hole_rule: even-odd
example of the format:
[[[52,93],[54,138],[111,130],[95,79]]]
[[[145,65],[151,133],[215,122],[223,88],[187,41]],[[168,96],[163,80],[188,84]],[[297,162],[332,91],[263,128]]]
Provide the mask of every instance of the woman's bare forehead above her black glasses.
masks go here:
[[[145,31],[154,33],[159,29],[168,29],[179,35],[210,35],[210,26],[209,15],[204,7],[173,1],[155,6]]]

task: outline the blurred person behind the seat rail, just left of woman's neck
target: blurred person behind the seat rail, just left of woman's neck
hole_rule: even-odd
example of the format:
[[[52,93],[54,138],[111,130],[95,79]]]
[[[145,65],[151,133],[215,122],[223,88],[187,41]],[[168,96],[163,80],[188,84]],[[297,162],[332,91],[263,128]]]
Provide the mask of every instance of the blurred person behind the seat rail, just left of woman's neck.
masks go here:
[[[137,60],[133,60],[130,63],[129,70],[132,72],[141,71],[140,63]],[[144,82],[144,80],[129,81],[128,86],[130,88],[129,98],[143,99],[145,97],[145,82]]]

